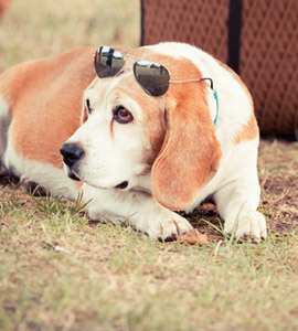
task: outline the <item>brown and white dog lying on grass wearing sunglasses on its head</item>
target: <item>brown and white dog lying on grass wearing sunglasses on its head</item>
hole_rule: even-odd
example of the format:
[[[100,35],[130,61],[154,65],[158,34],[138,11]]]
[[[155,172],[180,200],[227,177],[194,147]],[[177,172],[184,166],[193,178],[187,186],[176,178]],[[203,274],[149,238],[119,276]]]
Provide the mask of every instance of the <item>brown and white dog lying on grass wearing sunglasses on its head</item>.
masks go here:
[[[0,129],[2,172],[82,192],[91,218],[175,238],[192,229],[175,212],[211,197],[225,233],[266,237],[252,97],[195,46],[84,47],[17,65],[0,76]]]

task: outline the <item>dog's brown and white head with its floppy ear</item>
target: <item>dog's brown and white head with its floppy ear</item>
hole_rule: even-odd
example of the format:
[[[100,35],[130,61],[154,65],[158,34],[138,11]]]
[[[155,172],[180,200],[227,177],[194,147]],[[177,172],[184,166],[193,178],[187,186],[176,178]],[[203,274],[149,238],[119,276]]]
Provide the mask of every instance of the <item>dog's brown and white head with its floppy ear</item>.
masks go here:
[[[164,52],[166,50],[166,52]],[[168,50],[168,54],[167,54]],[[96,78],[84,94],[82,126],[62,147],[71,178],[99,188],[141,186],[151,173],[152,194],[171,210],[185,210],[214,177],[221,148],[206,82],[170,84],[148,95],[134,75],[138,60],[162,64],[171,81],[198,79],[200,68],[167,47],[128,51],[120,74]]]

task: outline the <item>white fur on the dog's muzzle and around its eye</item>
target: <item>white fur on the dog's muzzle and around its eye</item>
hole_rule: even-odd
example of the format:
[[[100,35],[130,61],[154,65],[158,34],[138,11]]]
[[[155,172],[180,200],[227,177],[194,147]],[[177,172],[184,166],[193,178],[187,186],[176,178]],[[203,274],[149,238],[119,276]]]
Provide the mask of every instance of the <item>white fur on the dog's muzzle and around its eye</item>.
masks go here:
[[[121,84],[123,76],[113,79],[107,89],[100,86],[93,90],[92,105],[96,107],[88,120],[67,140],[79,142],[86,151],[82,161],[72,169],[79,179],[98,189],[115,188],[127,180],[129,186],[138,185],[138,177],[146,170],[143,153],[149,148],[142,126],[142,113],[138,103],[121,96],[121,105],[134,113],[134,126],[114,121],[110,134],[113,109],[118,105],[114,86]],[[105,94],[103,94],[105,92]],[[87,94],[87,95],[91,95]],[[79,169],[78,169],[79,168]]]

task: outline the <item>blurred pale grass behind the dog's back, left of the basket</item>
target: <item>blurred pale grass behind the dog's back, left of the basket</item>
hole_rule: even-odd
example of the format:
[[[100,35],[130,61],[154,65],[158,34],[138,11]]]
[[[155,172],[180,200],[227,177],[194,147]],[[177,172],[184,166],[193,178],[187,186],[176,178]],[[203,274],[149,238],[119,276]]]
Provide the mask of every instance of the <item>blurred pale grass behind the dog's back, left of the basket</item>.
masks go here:
[[[1,2],[0,73],[74,47],[140,43],[139,0],[0,0],[0,12]]]

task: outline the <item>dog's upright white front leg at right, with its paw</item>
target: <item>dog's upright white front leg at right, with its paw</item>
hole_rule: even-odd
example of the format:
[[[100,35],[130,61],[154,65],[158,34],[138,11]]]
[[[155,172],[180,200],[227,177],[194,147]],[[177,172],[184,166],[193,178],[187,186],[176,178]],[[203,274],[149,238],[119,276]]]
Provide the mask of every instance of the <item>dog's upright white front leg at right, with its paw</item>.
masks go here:
[[[217,173],[187,212],[192,212],[212,195],[225,220],[225,233],[233,233],[236,237],[266,237],[266,220],[256,212],[260,194],[256,171],[257,147],[258,139],[254,139],[225,152]]]

